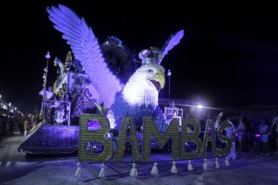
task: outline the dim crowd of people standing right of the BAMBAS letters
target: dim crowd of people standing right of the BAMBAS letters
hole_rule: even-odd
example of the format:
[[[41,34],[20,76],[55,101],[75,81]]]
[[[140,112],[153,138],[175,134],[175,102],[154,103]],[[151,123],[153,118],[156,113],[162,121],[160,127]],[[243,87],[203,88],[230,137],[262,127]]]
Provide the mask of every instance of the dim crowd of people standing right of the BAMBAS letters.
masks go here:
[[[278,152],[278,116],[253,119],[241,115],[236,119],[222,117],[221,121],[230,121],[233,124],[233,128],[226,132],[233,140],[232,151],[234,147],[238,155],[255,152],[268,156],[270,152]],[[235,159],[235,154],[231,158]]]

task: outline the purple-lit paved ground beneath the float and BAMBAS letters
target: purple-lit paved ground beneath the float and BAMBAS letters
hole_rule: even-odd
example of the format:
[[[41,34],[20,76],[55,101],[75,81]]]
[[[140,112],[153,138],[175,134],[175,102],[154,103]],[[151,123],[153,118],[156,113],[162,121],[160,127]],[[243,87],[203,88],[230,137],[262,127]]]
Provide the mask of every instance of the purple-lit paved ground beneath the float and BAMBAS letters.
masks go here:
[[[244,156],[214,169],[208,160],[207,171],[202,160],[193,160],[194,171],[187,171],[187,162],[177,162],[179,173],[170,173],[171,162],[159,162],[160,175],[150,174],[153,163],[137,165],[138,177],[129,177],[131,163],[105,164],[106,177],[98,177],[100,164],[82,163],[81,177],[75,177],[77,156],[26,156],[18,153],[22,136],[5,138],[0,143],[0,184],[278,184],[278,156]]]

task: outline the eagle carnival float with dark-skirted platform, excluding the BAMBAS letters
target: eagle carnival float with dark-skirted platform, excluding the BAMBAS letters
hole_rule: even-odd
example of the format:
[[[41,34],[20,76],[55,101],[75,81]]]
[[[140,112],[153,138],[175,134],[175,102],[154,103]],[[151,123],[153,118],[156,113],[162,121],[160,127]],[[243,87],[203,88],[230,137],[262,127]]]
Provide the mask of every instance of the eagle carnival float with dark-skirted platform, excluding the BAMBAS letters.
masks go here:
[[[157,129],[164,132],[168,124],[158,106],[158,93],[165,85],[161,62],[168,51],[179,44],[184,30],[172,34],[161,49],[150,47],[133,53],[115,36],[99,44],[84,18],[64,5],[47,8],[47,12],[72,51],[68,52],[65,62],[58,57],[53,60],[58,66],[58,79],[51,90],[47,90],[44,83],[44,90],[40,92],[44,99],[42,119],[25,137],[18,151],[71,153],[77,150],[82,113],[105,114],[112,138],[118,134],[125,115],[134,116],[138,132],[143,116],[151,116]],[[45,82],[47,71],[48,66],[43,77]],[[92,123],[88,124],[90,127]]]

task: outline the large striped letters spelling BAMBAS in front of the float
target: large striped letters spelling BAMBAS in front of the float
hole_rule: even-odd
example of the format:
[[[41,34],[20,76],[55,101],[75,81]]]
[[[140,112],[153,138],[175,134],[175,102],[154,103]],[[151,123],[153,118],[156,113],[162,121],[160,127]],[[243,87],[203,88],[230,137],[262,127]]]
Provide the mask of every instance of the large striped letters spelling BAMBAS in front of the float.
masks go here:
[[[97,131],[88,130],[88,121],[97,121],[101,127]],[[109,160],[113,155],[113,142],[108,138],[110,125],[105,116],[99,114],[83,114],[80,118],[80,138],[79,138],[79,160],[90,162],[103,162]],[[131,116],[125,116],[121,129],[116,140],[114,149],[114,162],[120,162],[123,157],[125,143],[131,143],[133,160],[149,161],[150,159],[150,139],[155,138],[157,144],[163,147],[168,140],[172,139],[172,158],[173,160],[189,160],[196,158],[205,158],[207,153],[207,143],[211,143],[212,156],[226,156],[231,149],[231,139],[223,135],[223,131],[231,128],[231,123],[223,121],[219,123],[218,130],[214,130],[214,122],[207,120],[203,142],[199,135],[201,133],[200,123],[195,119],[184,119],[182,121],[181,130],[179,131],[179,122],[175,119],[168,125],[168,129],[164,133],[160,133],[153,120],[150,117],[144,117],[142,129],[142,153],[138,147],[136,127]],[[127,127],[129,134],[127,134]],[[220,142],[226,143],[223,149],[216,147],[217,134]],[[86,146],[88,143],[99,143],[101,149],[94,153],[87,153]],[[194,151],[186,151],[185,143],[194,143],[196,145]],[[95,148],[96,145],[90,145]],[[91,148],[90,148],[91,149]]]

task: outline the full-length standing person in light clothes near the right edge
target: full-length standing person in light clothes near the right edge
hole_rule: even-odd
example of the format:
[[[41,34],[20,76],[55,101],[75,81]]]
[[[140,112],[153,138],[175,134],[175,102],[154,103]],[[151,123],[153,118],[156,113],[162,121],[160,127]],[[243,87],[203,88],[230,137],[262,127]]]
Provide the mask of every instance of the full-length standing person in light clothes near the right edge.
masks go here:
[[[262,145],[261,155],[266,154],[266,156],[268,156],[268,132],[268,125],[266,125],[266,122],[262,120],[260,125],[260,142]]]

